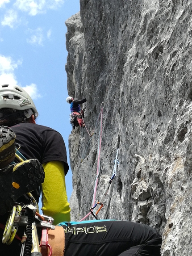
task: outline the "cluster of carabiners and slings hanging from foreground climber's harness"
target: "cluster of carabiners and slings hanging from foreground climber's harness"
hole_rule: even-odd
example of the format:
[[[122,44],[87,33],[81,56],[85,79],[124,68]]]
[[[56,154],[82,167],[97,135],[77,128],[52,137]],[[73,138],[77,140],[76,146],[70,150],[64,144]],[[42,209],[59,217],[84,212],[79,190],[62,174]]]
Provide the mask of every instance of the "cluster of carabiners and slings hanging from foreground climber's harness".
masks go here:
[[[32,195],[30,193],[28,196],[31,199]],[[36,206],[34,206],[34,202],[36,203]],[[0,228],[4,228],[2,243],[10,245],[13,242],[13,239],[17,238],[21,241],[20,256],[51,256],[53,250],[48,243],[47,230],[55,229],[55,226],[52,225],[53,218],[40,215],[36,212],[38,204],[34,198],[31,201],[31,204],[24,205],[21,203],[21,205],[13,206],[5,227],[0,225]],[[19,226],[26,227],[22,239],[16,235]],[[40,245],[38,242],[37,227],[42,228],[42,243]],[[42,248],[42,252],[40,248]],[[49,248],[49,254],[47,248]]]

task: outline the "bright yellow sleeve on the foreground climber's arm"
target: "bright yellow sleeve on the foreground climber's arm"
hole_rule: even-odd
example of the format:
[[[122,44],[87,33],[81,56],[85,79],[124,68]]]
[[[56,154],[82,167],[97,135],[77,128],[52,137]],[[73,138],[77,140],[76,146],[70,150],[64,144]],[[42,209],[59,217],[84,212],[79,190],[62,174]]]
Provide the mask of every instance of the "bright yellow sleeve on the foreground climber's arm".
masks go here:
[[[70,221],[70,207],[67,201],[64,166],[61,161],[42,164],[45,180],[42,184],[42,212],[54,218],[54,225]]]

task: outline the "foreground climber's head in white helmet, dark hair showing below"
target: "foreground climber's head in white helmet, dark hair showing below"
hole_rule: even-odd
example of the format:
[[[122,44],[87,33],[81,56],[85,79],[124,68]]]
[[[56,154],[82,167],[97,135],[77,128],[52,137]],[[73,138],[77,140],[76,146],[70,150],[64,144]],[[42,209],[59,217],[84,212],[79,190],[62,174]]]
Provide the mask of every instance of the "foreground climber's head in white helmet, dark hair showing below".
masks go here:
[[[0,84],[0,125],[35,123],[38,111],[27,92],[18,85]]]

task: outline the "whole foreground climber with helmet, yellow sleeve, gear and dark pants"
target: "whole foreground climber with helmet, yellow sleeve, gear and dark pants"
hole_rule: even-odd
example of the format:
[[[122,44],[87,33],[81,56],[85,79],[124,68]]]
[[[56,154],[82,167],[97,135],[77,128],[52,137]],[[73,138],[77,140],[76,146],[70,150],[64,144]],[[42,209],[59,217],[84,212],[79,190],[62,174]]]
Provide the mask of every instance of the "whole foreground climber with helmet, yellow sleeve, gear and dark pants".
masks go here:
[[[62,190],[66,193],[67,159],[61,152],[65,155],[65,147],[59,149],[57,144],[56,156],[50,151],[54,139],[59,143],[61,136],[36,125],[37,115],[22,88],[0,86],[0,122],[4,125],[0,126],[0,256],[160,256],[162,237],[152,227],[120,220],[71,222],[66,198],[64,209],[61,206],[58,212]],[[15,153],[17,142],[27,160]],[[38,213],[39,186],[47,195],[43,206],[48,216]]]

